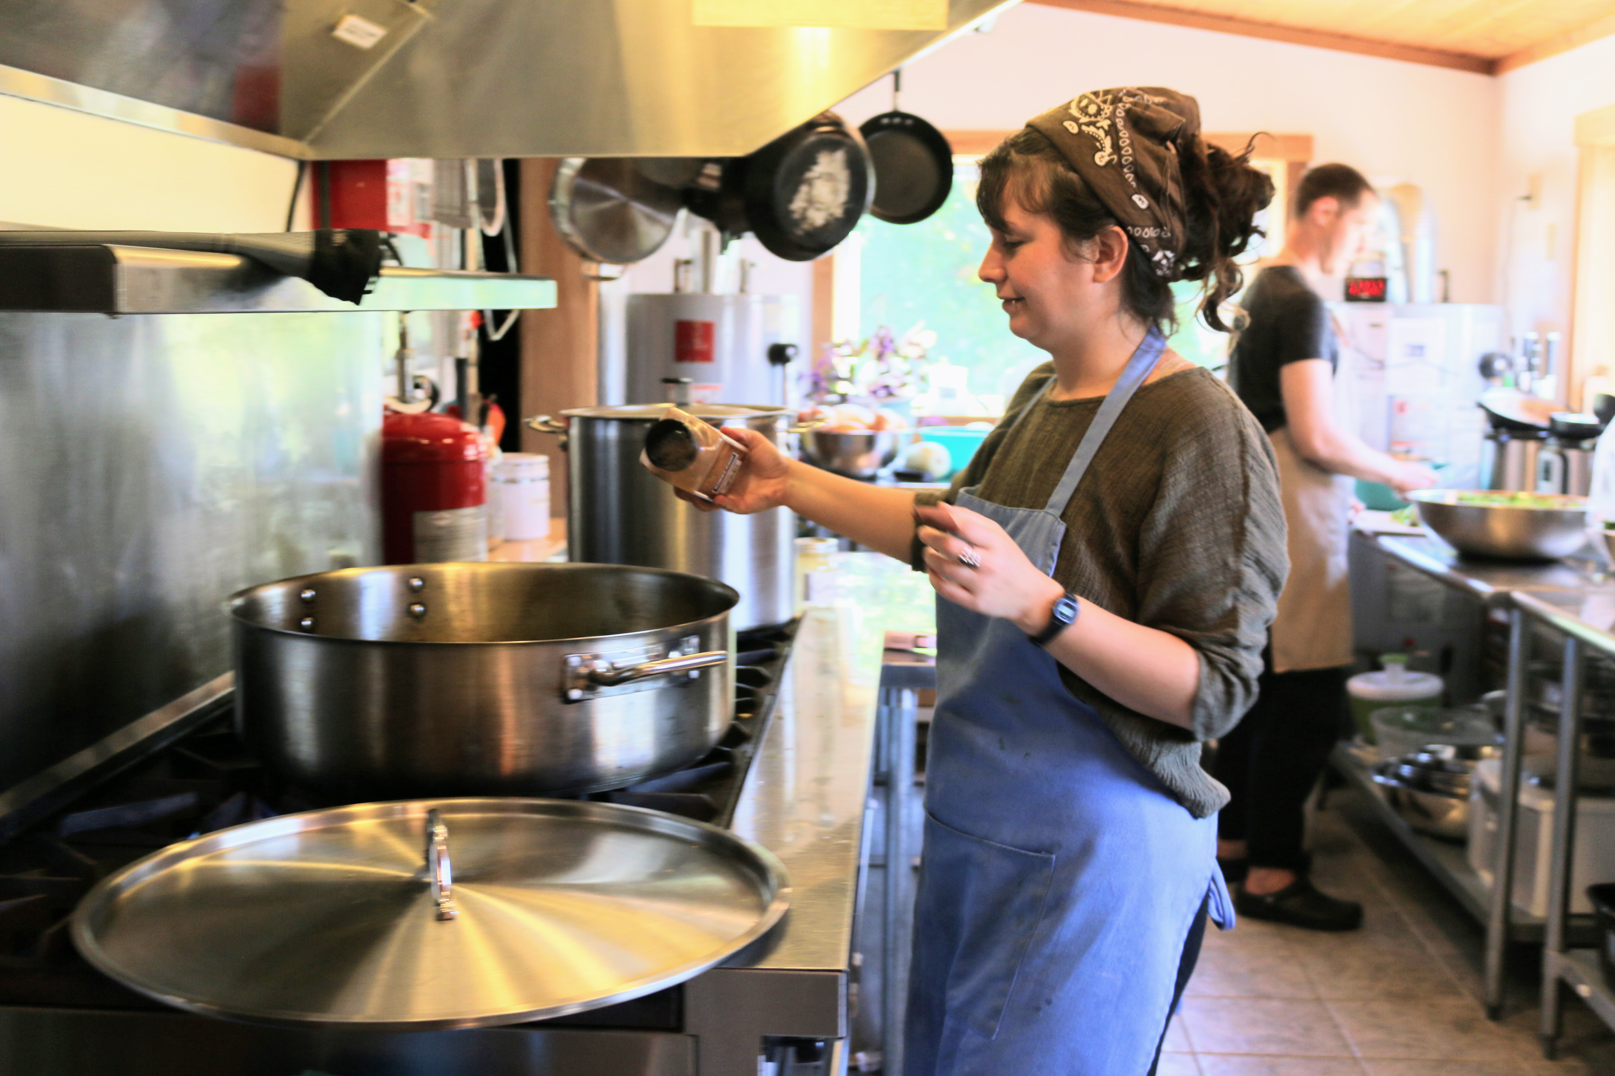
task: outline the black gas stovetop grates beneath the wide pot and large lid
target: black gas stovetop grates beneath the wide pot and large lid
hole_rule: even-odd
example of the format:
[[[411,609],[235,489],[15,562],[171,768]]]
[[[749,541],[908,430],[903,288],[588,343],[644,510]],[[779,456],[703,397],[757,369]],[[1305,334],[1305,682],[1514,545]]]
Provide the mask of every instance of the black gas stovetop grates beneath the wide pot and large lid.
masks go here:
[[[706,758],[677,773],[581,799],[730,826],[775,708],[793,634],[795,624],[788,624],[738,636],[733,719]],[[334,805],[276,781],[252,757],[234,734],[228,694],[212,700],[203,713],[192,715],[191,723],[191,731],[178,739],[153,737],[150,750],[124,750],[115,773],[81,781],[71,802],[42,818],[24,826],[13,818],[8,826],[0,816],[0,834],[10,834],[0,842],[0,1015],[11,1007],[78,1010],[79,1015],[171,1013],[160,1002],[108,979],[78,955],[68,920],[79,899],[107,874],[176,840]],[[669,1031],[678,1026],[678,987],[673,987],[543,1023]],[[181,1015],[174,1020],[208,1023]],[[0,1044],[5,1037],[0,1034]],[[107,1071],[124,1071],[116,1061],[116,1057],[108,1058]],[[23,1071],[6,1066],[3,1045],[0,1071]],[[55,1076],[58,1070],[29,1071]]]

